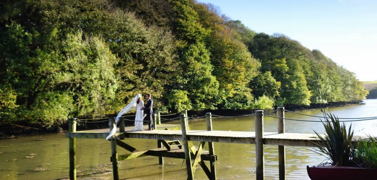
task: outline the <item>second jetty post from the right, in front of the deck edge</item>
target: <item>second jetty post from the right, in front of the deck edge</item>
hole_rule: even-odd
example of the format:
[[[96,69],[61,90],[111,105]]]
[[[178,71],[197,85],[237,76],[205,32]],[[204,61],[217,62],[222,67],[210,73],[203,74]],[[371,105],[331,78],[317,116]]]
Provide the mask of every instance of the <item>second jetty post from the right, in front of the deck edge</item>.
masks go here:
[[[255,114],[255,158],[256,158],[256,171],[257,180],[265,179],[265,165],[263,153],[263,110],[257,110]]]

